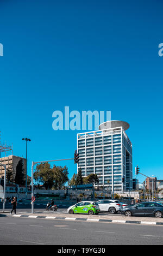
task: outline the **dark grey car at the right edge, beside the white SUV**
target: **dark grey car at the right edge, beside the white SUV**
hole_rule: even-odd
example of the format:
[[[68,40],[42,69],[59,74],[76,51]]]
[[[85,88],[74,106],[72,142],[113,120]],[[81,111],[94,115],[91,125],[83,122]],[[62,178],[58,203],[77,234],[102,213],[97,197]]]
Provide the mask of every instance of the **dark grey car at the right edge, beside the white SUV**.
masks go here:
[[[155,202],[142,202],[122,209],[121,214],[125,216],[155,216],[161,218],[163,205]]]

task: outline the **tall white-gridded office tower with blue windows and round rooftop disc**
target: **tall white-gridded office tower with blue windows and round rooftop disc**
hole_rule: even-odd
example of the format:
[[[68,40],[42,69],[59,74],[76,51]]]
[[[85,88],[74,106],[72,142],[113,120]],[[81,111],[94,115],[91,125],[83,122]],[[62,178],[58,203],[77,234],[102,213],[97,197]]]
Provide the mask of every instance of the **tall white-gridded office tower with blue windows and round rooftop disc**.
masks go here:
[[[99,130],[77,134],[78,171],[97,174],[99,183],[112,191],[133,188],[132,144],[126,134],[129,124],[108,121]]]

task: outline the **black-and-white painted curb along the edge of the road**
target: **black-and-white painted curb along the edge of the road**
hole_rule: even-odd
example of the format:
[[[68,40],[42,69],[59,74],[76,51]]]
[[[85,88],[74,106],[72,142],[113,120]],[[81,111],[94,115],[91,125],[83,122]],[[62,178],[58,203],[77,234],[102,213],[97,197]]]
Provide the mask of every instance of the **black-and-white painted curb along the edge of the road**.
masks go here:
[[[124,223],[124,224],[126,223],[126,224],[163,225],[163,222],[120,221],[117,219],[90,219],[90,218],[51,217],[51,216],[36,216],[36,215],[13,215],[12,217],[58,219],[58,220],[65,220],[65,221],[72,220],[72,221],[109,222],[109,223]]]

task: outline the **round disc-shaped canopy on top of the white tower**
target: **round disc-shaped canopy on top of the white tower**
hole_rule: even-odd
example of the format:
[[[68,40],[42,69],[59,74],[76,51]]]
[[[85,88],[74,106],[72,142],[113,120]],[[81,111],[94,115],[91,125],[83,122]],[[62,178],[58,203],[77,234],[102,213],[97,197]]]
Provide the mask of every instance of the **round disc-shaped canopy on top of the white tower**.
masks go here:
[[[111,120],[111,121],[106,121],[104,123],[101,123],[99,125],[99,130],[116,128],[116,127],[121,127],[121,126],[123,127],[124,130],[127,130],[130,127],[129,123],[127,123],[127,122],[118,121],[118,120]]]

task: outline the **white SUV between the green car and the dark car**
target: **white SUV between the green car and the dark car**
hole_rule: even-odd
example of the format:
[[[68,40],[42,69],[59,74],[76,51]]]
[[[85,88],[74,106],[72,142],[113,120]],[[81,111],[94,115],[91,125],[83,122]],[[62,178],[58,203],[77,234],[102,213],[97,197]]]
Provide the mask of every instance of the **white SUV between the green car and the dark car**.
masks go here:
[[[122,203],[120,203],[118,200],[103,199],[97,201],[97,204],[99,205],[99,209],[101,212],[109,212],[114,214],[122,210]]]

